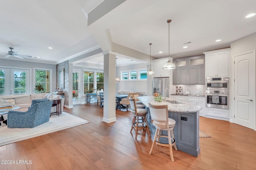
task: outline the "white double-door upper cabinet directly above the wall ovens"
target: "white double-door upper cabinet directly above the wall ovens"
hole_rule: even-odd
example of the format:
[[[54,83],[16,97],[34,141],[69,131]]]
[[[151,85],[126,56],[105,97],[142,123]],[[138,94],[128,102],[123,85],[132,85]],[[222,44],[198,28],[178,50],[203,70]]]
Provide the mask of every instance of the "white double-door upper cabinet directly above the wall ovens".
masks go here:
[[[205,76],[222,77],[230,74],[230,48],[204,52]]]

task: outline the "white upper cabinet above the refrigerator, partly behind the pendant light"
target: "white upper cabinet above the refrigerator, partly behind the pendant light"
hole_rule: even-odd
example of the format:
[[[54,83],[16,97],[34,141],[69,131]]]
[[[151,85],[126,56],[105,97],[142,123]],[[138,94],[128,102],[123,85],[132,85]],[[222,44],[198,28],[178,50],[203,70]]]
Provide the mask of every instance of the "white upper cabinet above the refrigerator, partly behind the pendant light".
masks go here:
[[[152,60],[152,70],[155,73],[154,77],[170,77],[170,70],[163,68],[164,64],[166,64],[168,60],[168,58]]]

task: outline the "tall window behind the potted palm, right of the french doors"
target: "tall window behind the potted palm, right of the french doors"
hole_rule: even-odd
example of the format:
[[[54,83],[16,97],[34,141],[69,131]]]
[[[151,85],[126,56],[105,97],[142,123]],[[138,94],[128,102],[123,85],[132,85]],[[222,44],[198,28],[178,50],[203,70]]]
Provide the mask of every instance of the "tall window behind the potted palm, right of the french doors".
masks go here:
[[[36,86],[39,84],[42,84],[43,90],[36,89],[36,93],[50,93],[50,70],[36,70]]]

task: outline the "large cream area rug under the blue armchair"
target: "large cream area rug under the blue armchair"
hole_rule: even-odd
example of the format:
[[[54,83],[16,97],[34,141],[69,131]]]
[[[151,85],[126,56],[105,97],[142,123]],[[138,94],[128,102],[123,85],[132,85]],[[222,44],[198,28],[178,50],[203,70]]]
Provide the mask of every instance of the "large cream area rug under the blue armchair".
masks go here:
[[[7,128],[5,125],[0,127],[0,146],[83,125],[85,123],[89,123],[89,121],[62,112],[60,116],[52,115],[50,121],[34,128]]]

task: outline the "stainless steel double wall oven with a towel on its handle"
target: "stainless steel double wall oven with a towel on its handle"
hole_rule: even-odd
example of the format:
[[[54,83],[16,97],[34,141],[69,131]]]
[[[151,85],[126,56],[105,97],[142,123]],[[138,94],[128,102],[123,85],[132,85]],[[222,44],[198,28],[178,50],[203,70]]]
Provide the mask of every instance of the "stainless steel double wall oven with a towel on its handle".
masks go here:
[[[229,109],[229,77],[206,78],[206,107]]]

